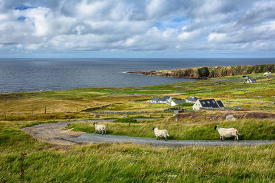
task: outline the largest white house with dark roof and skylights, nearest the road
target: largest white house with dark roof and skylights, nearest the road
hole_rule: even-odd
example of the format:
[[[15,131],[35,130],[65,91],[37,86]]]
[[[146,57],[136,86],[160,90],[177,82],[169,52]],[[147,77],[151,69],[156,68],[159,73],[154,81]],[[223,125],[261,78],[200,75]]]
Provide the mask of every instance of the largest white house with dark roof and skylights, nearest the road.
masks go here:
[[[223,101],[221,100],[216,101],[215,99],[198,99],[193,105],[193,110],[200,110],[201,108],[223,110],[225,107]]]

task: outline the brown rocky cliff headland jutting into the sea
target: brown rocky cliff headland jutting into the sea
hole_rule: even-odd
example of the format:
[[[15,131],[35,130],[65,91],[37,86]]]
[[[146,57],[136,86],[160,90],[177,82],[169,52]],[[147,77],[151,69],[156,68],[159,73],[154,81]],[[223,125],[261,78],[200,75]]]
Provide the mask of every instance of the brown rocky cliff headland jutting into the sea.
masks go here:
[[[210,77],[223,77],[223,76],[230,76],[230,75],[247,75],[247,74],[254,74],[254,73],[264,73],[267,71],[275,73],[275,64],[239,65],[239,66],[203,66],[203,67],[170,69],[170,70],[160,70],[160,71],[135,71],[135,72],[129,72],[129,73],[200,79],[200,78],[210,78]]]

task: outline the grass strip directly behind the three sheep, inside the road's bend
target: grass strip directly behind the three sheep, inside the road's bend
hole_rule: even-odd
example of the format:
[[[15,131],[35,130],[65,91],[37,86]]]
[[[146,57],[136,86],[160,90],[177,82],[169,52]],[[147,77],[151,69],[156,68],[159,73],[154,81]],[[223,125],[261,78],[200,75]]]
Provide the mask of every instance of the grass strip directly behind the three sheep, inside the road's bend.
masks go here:
[[[173,140],[219,140],[219,133],[214,130],[215,125],[221,127],[235,127],[241,134],[241,140],[275,140],[274,119],[241,119],[236,121],[144,121],[129,125],[128,123],[104,123],[107,134],[122,136],[138,136],[154,138],[153,127],[166,129],[169,139]],[[76,131],[94,133],[92,123],[71,123],[69,128]]]

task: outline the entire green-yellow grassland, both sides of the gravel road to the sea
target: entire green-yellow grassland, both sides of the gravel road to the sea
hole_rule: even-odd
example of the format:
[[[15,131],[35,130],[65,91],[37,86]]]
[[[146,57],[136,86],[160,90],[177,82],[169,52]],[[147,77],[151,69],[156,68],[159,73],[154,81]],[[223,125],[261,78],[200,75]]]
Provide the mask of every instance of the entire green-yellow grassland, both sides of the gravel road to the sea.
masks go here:
[[[68,119],[94,119],[87,108],[101,112],[98,119],[159,118],[137,123],[105,123],[107,134],[154,137],[152,127],[166,128],[171,139],[217,140],[214,125],[236,127],[241,139],[275,139],[275,78],[259,77],[243,84],[241,76],[221,77],[142,88],[83,88],[61,91],[0,94],[0,182],[275,182],[275,145],[183,147],[171,149],[131,143],[50,145],[36,141],[21,129]],[[151,96],[171,95],[222,99],[239,111],[155,112],[171,106],[148,103]],[[229,97],[229,102],[227,102]],[[46,114],[44,107],[46,106]],[[182,106],[190,108],[190,106]],[[33,111],[33,114],[32,114]],[[258,114],[259,113],[259,114]],[[226,121],[227,114],[238,117]],[[120,120],[122,121],[122,120]],[[94,132],[92,123],[74,123],[76,131]],[[21,153],[26,153],[20,178]]]

